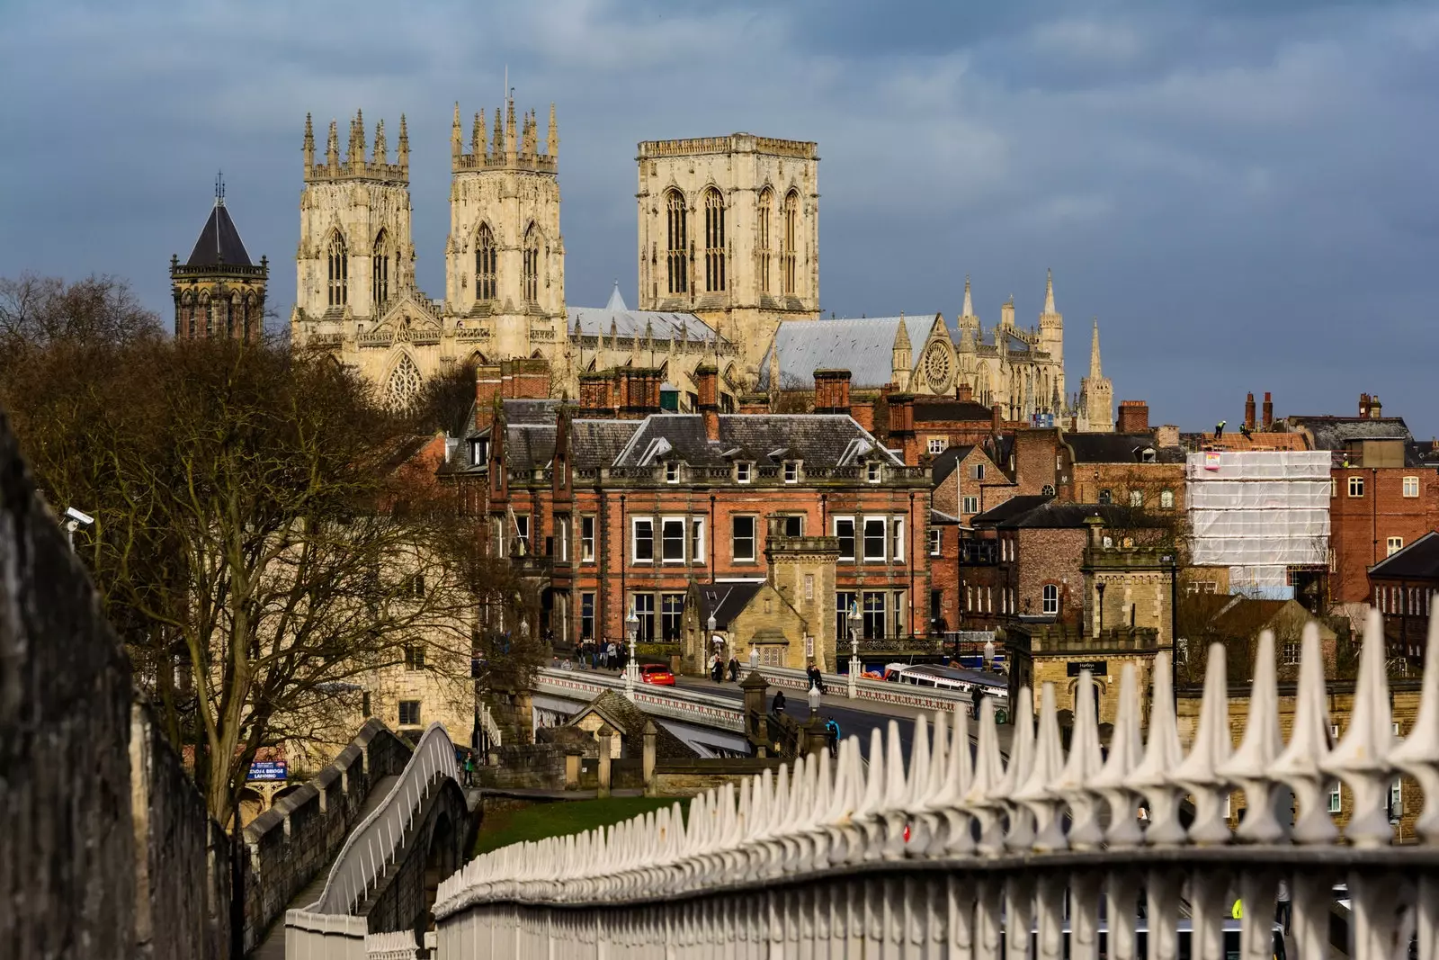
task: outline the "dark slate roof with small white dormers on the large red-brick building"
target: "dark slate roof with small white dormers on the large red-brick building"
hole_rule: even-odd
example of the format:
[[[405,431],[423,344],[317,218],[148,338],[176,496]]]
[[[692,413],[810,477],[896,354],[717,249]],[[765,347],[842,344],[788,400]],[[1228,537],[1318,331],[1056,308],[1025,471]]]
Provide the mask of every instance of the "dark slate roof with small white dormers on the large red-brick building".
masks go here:
[[[725,456],[730,450],[737,453]],[[845,413],[721,415],[718,442],[705,438],[701,416],[671,413],[645,417],[613,465],[679,459],[691,466],[727,466],[735,456],[745,456],[761,465],[794,459],[819,468],[853,466],[872,455],[892,466],[904,465]]]

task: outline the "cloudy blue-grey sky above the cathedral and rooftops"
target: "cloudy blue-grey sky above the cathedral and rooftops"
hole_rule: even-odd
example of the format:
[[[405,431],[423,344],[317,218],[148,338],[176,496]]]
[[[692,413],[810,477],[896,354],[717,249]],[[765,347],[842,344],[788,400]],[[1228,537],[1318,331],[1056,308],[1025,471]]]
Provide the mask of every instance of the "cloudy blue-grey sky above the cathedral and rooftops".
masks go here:
[[[449,121],[560,114],[567,299],[635,299],[635,144],[820,144],[826,314],[1022,322],[1055,271],[1071,384],[1098,317],[1157,422],[1351,413],[1439,432],[1439,4],[1364,0],[0,0],[0,275],[130,278],[168,317],[216,168],[294,299],[312,111],[409,115],[443,291]],[[393,142],[393,134],[391,134]]]

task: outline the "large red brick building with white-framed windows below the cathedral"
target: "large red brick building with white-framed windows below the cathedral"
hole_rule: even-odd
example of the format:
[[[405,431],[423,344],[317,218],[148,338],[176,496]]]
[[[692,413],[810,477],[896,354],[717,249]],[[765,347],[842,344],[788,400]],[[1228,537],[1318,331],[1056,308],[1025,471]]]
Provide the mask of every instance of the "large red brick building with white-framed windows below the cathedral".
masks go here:
[[[715,370],[696,377],[699,415],[661,413],[659,373],[623,368],[581,377],[578,409],[476,416],[450,472],[489,550],[540,587],[540,629],[619,642],[633,610],[640,639],[678,639],[692,583],[768,581],[826,669],[852,604],[865,636],[927,633],[928,468],[848,413],[721,415]]]

